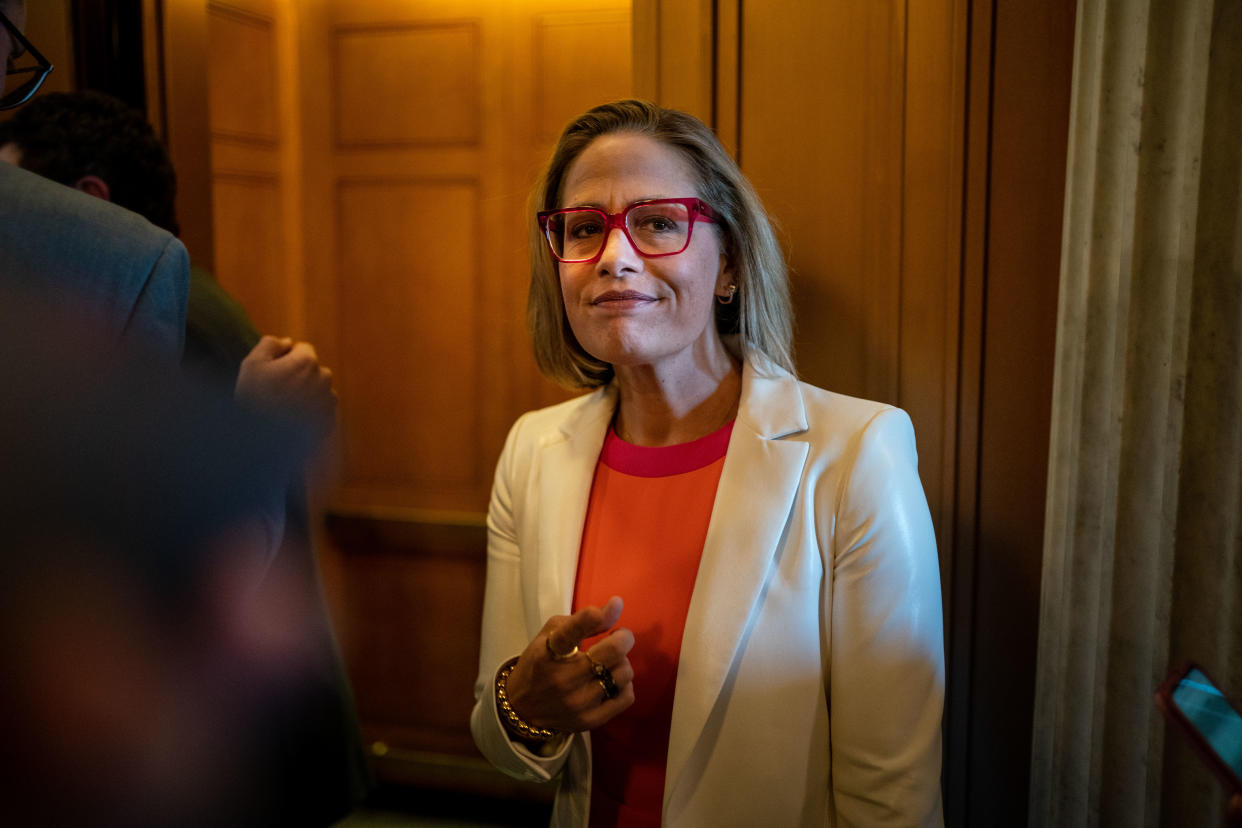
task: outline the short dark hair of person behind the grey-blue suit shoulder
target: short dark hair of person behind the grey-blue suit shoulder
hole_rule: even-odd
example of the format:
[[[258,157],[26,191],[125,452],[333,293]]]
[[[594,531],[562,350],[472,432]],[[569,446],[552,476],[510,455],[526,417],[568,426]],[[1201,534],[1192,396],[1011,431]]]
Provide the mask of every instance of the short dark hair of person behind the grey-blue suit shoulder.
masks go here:
[[[96,175],[111,200],[174,236],[176,174],[155,130],[124,102],[99,92],[40,96],[0,123],[0,145],[21,150],[21,166],[75,186]]]

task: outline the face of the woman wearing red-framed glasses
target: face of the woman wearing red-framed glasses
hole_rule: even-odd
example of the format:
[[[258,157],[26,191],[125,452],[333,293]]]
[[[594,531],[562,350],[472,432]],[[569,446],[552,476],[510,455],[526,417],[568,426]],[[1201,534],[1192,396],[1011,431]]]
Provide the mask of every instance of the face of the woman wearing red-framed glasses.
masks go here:
[[[633,133],[601,135],[569,165],[561,207],[616,214],[647,199],[698,196],[681,154]],[[696,356],[723,349],[713,302],[732,281],[713,223],[696,221],[689,246],[645,258],[620,230],[591,263],[559,263],[565,313],[591,356],[620,366],[693,367]],[[713,354],[714,355],[714,354]]]

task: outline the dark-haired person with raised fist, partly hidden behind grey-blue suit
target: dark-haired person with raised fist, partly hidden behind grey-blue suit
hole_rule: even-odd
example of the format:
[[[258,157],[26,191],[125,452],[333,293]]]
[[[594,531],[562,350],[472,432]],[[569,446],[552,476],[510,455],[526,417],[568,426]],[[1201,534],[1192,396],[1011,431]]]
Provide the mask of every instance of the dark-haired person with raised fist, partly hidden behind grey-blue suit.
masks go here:
[[[31,101],[0,124],[0,159],[179,230],[168,153],[145,119],[116,98],[76,92]],[[315,442],[330,431],[330,372],[308,344],[260,340],[242,307],[199,268],[191,271],[188,319],[183,361],[195,377],[236,387],[238,400]],[[268,824],[325,826],[368,787],[353,700],[319,593],[306,500],[294,470],[287,502],[274,510],[288,519],[273,555],[291,581],[286,586],[304,598],[299,621],[313,644],[314,669],[262,725],[271,768],[265,798],[279,812]]]

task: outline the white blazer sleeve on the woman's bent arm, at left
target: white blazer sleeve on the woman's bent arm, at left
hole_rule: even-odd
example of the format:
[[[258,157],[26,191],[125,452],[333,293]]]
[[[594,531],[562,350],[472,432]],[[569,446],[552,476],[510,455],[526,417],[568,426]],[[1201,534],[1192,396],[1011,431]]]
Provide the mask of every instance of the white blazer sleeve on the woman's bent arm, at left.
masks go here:
[[[520,437],[519,418],[509,431],[496,468],[492,500],[487,510],[487,585],[483,590],[483,634],[479,672],[474,682],[471,734],[479,751],[498,770],[523,780],[545,782],[565,765],[571,739],[549,745],[546,756],[509,739],[496,708],[496,677],[504,664],[530,643],[522,610],[522,549],[518,542],[514,497],[520,492],[518,454],[529,457]],[[523,451],[525,448],[525,451]]]

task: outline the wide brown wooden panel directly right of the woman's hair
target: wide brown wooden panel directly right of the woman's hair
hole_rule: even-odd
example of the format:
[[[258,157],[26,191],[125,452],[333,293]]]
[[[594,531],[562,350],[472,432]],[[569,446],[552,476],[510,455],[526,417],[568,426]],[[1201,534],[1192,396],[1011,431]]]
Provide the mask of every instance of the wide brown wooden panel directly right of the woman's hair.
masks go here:
[[[789,254],[799,371],[897,402],[904,4],[786,5],[744,7],[741,168]]]

